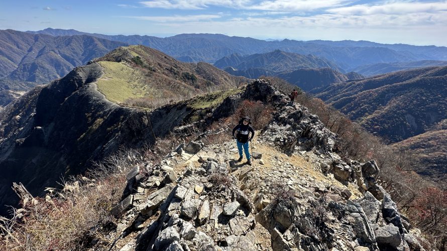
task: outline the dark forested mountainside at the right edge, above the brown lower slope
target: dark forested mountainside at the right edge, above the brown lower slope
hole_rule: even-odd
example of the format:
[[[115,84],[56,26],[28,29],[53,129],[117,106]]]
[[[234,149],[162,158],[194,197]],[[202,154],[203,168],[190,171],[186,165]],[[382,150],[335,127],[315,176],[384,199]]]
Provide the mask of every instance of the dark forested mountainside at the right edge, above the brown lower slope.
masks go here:
[[[399,71],[333,84],[317,97],[370,132],[398,142],[447,115],[447,67]]]

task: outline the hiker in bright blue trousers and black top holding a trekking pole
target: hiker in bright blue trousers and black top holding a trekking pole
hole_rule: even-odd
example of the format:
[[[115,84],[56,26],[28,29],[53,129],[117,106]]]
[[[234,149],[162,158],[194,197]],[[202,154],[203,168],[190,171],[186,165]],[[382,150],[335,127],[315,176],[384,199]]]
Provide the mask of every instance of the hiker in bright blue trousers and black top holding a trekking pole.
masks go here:
[[[239,150],[239,159],[238,162],[242,161],[244,155],[242,154],[242,148],[244,147],[245,156],[247,157],[247,163],[249,165],[252,164],[250,159],[250,151],[249,151],[249,141],[252,141],[255,136],[255,130],[253,130],[252,126],[250,126],[250,118],[243,117],[239,120],[239,124],[233,129],[233,138],[236,138],[236,145]],[[235,136],[235,132],[237,132]],[[249,133],[252,135],[249,137]]]

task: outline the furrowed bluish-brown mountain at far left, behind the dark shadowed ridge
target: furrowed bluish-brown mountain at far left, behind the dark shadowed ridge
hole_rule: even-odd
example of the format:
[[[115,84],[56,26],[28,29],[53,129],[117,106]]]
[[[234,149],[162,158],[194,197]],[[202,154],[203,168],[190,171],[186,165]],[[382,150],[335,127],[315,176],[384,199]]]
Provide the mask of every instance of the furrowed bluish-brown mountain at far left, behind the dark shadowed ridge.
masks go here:
[[[65,76],[74,67],[100,57],[122,42],[86,35],[54,37],[0,31],[0,106],[21,91]]]

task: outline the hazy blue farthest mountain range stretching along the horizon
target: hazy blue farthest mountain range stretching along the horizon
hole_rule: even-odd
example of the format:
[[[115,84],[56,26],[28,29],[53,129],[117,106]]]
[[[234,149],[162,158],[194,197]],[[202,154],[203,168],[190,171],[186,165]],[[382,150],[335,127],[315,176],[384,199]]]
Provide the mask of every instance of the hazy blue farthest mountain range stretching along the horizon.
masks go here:
[[[45,29],[37,32],[53,36],[91,35],[98,38],[142,44],[160,50],[186,62],[214,63],[218,59],[239,53],[249,55],[279,49],[302,55],[314,55],[337,63],[348,70],[374,63],[409,62],[417,60],[447,60],[447,47],[379,44],[369,41],[264,41],[253,38],[229,37],[221,34],[180,34],[173,37],[102,35],[75,30]]]

